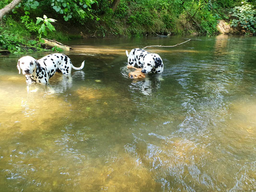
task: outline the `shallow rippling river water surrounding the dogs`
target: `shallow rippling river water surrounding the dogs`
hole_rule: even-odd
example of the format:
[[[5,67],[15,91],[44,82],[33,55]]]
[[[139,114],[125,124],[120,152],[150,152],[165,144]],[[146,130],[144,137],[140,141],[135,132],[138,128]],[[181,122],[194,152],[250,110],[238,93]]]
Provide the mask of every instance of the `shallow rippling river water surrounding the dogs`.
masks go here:
[[[256,191],[256,37],[148,48],[162,75],[128,78],[126,49],[185,40],[64,42],[86,64],[50,85],[1,56],[0,192]]]

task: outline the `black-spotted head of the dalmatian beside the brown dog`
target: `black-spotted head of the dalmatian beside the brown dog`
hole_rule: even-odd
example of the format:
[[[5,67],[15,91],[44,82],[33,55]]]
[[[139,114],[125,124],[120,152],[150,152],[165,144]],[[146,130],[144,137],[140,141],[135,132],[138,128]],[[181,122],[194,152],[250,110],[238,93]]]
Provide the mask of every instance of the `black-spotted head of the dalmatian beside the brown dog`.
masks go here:
[[[157,69],[159,66],[162,65],[162,60],[158,54],[146,54],[143,60],[143,69],[141,72],[149,73],[153,69]]]

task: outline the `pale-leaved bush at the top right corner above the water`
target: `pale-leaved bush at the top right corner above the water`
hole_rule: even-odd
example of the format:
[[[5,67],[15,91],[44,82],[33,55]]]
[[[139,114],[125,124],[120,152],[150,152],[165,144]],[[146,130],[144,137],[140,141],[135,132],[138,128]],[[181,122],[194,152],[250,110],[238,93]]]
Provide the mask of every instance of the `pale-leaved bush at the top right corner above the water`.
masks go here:
[[[234,19],[231,26],[242,27],[246,33],[256,34],[256,10],[248,3],[242,4],[232,9]]]

